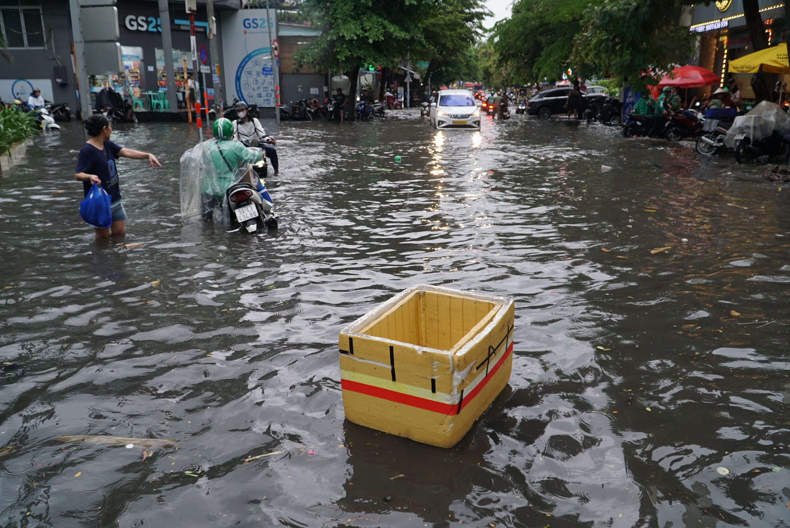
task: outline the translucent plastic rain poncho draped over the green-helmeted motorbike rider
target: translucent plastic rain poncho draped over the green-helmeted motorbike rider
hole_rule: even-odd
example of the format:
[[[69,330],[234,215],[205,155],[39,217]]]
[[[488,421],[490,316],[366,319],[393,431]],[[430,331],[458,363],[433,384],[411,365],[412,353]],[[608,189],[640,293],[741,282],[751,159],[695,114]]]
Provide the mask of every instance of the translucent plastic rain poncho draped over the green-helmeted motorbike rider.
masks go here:
[[[228,217],[225,191],[261,160],[261,149],[248,148],[237,141],[209,139],[198,143],[181,157],[179,182],[181,217],[184,221],[221,211]],[[221,206],[221,207],[220,207]]]

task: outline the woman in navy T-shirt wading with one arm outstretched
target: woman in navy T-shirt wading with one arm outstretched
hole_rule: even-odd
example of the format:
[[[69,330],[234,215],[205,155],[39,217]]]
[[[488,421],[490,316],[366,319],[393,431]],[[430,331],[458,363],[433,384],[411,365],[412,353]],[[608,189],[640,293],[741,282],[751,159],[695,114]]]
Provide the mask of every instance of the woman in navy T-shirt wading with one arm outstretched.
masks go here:
[[[103,190],[110,195],[110,212],[112,224],[109,228],[100,228],[91,225],[97,239],[106,239],[112,235],[125,235],[124,221],[126,211],[123,209],[121,188],[118,179],[118,168],[115,160],[119,157],[128,157],[132,160],[149,160],[151,167],[161,167],[159,160],[151,153],[139,150],[126,149],[110,141],[112,125],[106,116],[101,114],[91,115],[83,121],[85,130],[91,137],[82,145],[77,155],[77,168],[74,169],[74,179],[82,182],[85,196],[91,190],[93,183],[100,183]]]

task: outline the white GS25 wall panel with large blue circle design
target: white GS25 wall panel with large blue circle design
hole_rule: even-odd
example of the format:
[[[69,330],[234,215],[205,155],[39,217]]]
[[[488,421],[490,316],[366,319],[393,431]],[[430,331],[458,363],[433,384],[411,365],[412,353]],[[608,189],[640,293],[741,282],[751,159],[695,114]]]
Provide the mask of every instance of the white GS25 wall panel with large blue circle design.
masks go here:
[[[268,26],[268,27],[267,27]],[[276,38],[275,10],[242,9],[222,17],[222,50],[227,98],[274,107],[269,35]]]

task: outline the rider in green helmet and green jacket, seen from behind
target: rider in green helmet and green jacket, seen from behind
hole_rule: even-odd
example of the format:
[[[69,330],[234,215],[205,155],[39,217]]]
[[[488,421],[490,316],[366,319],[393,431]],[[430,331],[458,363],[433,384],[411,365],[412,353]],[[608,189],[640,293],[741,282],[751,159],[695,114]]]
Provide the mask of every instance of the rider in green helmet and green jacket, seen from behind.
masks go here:
[[[217,119],[213,132],[214,138],[202,144],[205,165],[209,169],[213,168],[213,175],[203,179],[201,188],[205,221],[213,220],[214,209],[222,205],[225,191],[243,175],[247,164],[261,160],[261,149],[249,148],[239,141],[233,141],[233,123],[230,119]]]

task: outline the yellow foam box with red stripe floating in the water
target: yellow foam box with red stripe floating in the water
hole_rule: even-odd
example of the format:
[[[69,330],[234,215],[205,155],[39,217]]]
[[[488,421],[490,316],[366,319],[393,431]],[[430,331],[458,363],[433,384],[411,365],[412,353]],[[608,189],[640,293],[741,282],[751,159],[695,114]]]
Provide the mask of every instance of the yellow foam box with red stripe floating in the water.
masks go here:
[[[340,332],[345,416],[453,447],[510,380],[513,300],[416,285]]]

